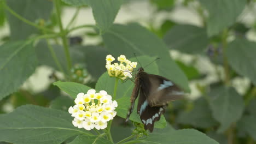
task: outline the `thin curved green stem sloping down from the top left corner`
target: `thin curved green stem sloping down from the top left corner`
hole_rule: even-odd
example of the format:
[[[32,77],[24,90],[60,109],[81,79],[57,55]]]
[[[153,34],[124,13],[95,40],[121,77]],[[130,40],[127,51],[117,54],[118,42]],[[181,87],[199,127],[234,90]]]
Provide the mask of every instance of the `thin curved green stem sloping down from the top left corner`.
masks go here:
[[[10,7],[8,7],[7,4],[3,3],[3,7],[4,7],[5,9],[7,9],[10,14],[12,14],[12,15],[15,16],[15,17],[17,17],[17,18],[20,19],[21,21],[27,23],[27,25],[36,27],[36,28],[41,29],[41,30],[43,30],[43,31],[45,31],[45,32],[48,32],[48,33],[54,33],[53,31],[51,31],[51,29],[44,28],[44,27],[40,27],[40,26],[38,26],[36,23],[25,19],[25,18],[22,17],[21,15],[17,14],[17,13],[16,13],[14,10],[12,10]]]

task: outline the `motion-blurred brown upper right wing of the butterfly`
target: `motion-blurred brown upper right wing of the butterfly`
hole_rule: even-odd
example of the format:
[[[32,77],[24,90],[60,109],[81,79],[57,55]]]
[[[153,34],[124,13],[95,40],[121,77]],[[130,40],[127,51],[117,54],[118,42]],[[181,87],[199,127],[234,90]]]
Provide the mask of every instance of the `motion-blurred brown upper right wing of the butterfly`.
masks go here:
[[[146,95],[150,106],[163,106],[173,100],[181,99],[184,92],[170,80],[159,75],[148,75],[150,88]]]

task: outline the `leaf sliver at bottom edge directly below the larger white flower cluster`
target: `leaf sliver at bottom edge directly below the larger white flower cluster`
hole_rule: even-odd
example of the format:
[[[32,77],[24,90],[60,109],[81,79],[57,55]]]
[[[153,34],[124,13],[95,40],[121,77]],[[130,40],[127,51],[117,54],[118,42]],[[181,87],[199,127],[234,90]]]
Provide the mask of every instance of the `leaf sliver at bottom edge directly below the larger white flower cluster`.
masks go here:
[[[100,135],[99,136],[79,135],[75,137],[75,139],[72,142],[69,142],[68,144],[81,144],[81,143],[112,144],[111,141],[104,139],[103,137],[100,137]]]

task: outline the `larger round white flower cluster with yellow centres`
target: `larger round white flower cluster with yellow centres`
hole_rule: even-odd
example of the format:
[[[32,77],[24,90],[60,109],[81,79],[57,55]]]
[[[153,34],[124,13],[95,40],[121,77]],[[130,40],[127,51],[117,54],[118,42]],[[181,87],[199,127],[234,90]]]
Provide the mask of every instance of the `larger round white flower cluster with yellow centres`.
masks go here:
[[[118,106],[117,101],[112,101],[106,91],[95,92],[90,89],[86,94],[79,93],[74,100],[75,105],[69,107],[68,112],[74,117],[72,123],[75,127],[86,130],[105,129],[107,122],[117,115],[114,111]]]

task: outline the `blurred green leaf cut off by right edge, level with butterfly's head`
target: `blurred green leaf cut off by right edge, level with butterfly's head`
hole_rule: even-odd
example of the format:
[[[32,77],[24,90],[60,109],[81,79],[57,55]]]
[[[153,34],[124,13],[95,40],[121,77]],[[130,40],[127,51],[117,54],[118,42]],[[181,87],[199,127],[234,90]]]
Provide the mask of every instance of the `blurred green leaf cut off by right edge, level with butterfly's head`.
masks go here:
[[[246,39],[232,41],[226,50],[226,57],[238,74],[248,77],[256,86],[256,43]]]

